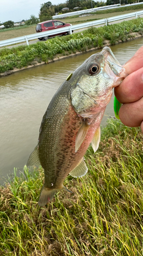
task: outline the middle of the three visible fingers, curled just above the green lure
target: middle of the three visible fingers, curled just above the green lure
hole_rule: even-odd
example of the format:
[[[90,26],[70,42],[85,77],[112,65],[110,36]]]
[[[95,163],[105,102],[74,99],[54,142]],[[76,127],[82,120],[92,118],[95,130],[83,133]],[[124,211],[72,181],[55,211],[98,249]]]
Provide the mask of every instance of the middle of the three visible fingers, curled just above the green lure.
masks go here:
[[[143,96],[143,68],[127,76],[120,86],[115,88],[115,96],[121,103],[139,100]]]

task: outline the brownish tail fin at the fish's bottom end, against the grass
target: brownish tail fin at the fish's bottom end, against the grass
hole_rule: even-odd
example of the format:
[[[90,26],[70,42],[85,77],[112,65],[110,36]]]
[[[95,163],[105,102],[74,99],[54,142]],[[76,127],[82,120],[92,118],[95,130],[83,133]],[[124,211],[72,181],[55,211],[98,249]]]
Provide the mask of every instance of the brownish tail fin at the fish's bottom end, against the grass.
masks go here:
[[[49,203],[53,199],[53,197],[57,191],[58,191],[58,189],[54,189],[54,188],[50,189],[43,185],[41,194],[40,194],[40,198],[38,201],[39,206],[44,206],[45,204]]]

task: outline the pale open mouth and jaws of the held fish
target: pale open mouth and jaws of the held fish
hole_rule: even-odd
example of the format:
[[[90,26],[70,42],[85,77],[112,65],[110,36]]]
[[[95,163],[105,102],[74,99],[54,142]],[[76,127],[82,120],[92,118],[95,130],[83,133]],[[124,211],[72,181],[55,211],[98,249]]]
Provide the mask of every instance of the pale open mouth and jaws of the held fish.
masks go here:
[[[105,65],[103,68],[104,77],[114,80],[113,87],[119,86],[121,81],[128,75],[125,68],[122,67],[109,47],[104,47],[102,54],[105,59]]]

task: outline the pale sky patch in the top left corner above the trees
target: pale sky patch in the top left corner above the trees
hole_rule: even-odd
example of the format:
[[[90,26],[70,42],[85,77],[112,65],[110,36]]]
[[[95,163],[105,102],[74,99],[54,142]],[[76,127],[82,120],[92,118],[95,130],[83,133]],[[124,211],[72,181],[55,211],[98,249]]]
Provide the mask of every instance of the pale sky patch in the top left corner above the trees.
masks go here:
[[[42,4],[50,1],[52,5],[65,3],[66,0],[0,0],[0,22],[20,22],[31,15],[39,17]]]

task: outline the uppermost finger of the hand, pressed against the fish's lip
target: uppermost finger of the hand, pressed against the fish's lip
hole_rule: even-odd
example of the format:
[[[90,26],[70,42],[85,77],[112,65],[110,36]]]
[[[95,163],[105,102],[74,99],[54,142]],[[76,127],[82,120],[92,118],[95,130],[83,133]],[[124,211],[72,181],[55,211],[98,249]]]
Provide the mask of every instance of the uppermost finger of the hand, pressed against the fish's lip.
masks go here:
[[[137,52],[134,54],[134,56],[129,59],[126,64],[124,65],[124,68],[126,69],[128,74],[131,74],[132,72],[142,68],[143,63],[143,46],[140,47]]]

